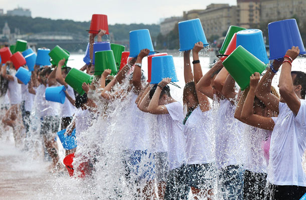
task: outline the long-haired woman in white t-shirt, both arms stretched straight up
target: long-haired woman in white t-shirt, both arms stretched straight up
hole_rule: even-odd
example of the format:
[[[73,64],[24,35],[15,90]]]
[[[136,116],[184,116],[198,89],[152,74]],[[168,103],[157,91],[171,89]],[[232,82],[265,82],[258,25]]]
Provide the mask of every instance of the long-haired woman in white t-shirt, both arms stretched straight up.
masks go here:
[[[184,51],[185,87],[183,103],[185,111],[184,135],[186,136],[186,162],[188,183],[197,198],[212,199],[215,180],[212,112],[208,97],[197,89],[202,75],[199,51],[203,42],[197,42],[193,49],[193,71],[190,65],[190,50]],[[206,121],[206,123],[203,123]]]

